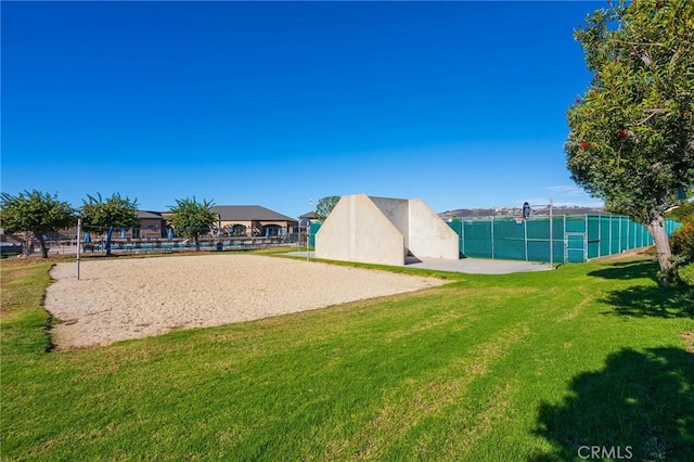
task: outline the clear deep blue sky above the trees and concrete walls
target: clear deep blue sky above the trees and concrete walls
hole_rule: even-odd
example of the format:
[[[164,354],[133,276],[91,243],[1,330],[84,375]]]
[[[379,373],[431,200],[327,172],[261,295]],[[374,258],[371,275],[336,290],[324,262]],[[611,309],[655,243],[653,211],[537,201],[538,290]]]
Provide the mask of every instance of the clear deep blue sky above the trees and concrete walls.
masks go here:
[[[604,2],[2,2],[2,192],[290,216],[600,204],[566,170]]]

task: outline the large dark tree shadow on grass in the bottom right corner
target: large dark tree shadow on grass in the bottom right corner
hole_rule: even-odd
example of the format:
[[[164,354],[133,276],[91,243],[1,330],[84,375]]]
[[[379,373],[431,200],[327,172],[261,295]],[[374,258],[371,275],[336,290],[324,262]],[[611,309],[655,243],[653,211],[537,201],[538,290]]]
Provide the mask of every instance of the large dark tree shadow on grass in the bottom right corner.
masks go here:
[[[581,460],[597,454],[592,459],[691,461],[693,384],[694,355],[684,350],[613,354],[604,369],[576,376],[562,403],[540,406],[535,434],[554,449],[531,460]]]

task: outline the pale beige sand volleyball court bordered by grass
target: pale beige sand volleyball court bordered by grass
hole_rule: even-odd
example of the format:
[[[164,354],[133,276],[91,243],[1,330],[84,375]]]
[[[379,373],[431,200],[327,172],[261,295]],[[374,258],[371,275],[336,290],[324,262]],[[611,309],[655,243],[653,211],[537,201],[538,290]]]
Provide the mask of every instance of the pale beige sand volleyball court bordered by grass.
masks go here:
[[[446,281],[256,255],[82,261],[51,270],[57,349],[222,325],[417,291]]]

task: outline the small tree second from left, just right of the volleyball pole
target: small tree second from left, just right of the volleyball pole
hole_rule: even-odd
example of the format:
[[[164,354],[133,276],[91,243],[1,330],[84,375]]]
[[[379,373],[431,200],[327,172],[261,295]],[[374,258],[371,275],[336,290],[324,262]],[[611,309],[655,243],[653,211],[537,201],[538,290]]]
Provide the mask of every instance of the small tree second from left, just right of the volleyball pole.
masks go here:
[[[114,193],[105,202],[101,194],[97,197],[87,195],[82,201],[81,216],[86,231],[105,231],[104,248],[106,256],[111,256],[111,235],[114,228],[134,228],[140,224],[138,218],[138,203],[127,196]]]

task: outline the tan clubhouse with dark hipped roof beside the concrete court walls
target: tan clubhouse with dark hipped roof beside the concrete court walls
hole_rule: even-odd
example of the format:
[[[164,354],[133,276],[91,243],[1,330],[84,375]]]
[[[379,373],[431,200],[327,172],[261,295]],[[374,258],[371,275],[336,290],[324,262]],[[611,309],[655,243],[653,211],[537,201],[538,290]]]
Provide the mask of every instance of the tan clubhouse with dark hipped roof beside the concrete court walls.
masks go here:
[[[293,234],[298,221],[259,205],[216,205],[218,228],[226,236],[282,236]]]

